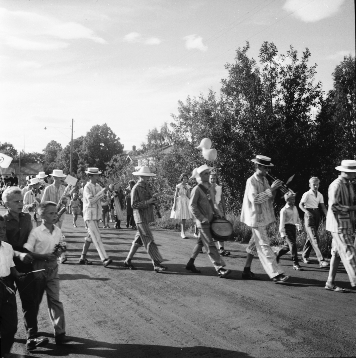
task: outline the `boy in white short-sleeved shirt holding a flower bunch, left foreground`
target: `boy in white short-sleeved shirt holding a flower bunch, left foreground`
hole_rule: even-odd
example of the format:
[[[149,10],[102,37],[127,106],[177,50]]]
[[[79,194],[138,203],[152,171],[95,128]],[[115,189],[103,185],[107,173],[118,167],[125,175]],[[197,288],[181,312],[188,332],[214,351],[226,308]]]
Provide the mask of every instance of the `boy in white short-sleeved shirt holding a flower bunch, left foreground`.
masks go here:
[[[57,204],[43,202],[39,205],[38,211],[42,224],[31,231],[29,239],[24,245],[24,248],[30,251],[35,259],[33,269],[44,269],[44,271],[35,274],[36,315],[38,315],[44,291],[46,291],[55,342],[63,344],[69,342],[70,338],[65,335],[63,304],[59,300],[58,263],[55,252],[62,240],[62,232],[58,226],[54,225],[57,218]],[[61,250],[58,251],[58,256],[60,254]]]

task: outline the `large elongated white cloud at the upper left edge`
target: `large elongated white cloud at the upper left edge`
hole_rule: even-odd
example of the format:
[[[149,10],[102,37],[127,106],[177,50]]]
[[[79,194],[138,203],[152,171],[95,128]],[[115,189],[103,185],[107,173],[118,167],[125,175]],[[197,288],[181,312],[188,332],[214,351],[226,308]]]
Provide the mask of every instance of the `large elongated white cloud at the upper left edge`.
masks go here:
[[[51,16],[4,8],[0,8],[0,33],[3,43],[25,50],[55,50],[69,46],[69,43],[57,39],[88,39],[107,43],[81,24],[64,23]]]

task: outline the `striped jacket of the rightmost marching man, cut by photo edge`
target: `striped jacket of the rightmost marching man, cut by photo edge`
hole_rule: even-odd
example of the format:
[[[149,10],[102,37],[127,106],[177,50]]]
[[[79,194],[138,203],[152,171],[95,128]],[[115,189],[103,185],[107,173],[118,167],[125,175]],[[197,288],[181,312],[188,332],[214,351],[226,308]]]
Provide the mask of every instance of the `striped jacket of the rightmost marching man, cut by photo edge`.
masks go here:
[[[328,197],[326,229],[339,234],[352,234],[355,231],[355,214],[347,208],[353,205],[355,197],[352,184],[339,175],[329,185]]]

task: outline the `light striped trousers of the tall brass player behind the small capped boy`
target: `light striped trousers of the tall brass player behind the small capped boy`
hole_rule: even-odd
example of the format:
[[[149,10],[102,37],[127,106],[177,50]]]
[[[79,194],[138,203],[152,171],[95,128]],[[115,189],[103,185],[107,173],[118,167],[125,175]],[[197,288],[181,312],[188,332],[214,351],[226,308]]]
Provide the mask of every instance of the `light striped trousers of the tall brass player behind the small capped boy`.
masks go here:
[[[275,253],[270,246],[270,240],[267,236],[267,226],[251,227],[252,237],[248,243],[246,251],[251,255],[258,254],[259,261],[261,261],[264,271],[272,279],[280,274],[283,270],[276,261]]]

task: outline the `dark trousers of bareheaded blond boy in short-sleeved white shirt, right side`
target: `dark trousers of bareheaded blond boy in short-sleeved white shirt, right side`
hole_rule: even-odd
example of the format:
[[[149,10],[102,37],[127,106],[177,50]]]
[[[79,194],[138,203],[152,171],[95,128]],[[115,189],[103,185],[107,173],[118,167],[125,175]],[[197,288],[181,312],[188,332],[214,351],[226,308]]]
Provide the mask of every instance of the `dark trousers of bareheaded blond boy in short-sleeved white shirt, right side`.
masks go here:
[[[303,258],[308,258],[313,248],[318,261],[324,260],[324,256],[319,248],[318,228],[320,224],[320,211],[309,210],[308,213],[305,213],[304,224],[308,237],[303,247]]]

